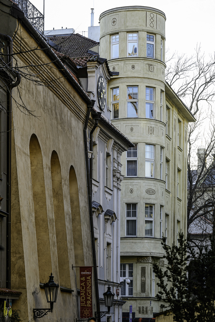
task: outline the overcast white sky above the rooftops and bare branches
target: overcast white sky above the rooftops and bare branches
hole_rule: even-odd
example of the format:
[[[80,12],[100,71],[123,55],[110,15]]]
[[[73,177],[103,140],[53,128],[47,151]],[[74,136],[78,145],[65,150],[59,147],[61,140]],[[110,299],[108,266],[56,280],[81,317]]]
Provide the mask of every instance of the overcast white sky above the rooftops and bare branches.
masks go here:
[[[43,13],[43,0],[31,0]],[[191,55],[196,44],[201,43],[206,54],[215,51],[214,13],[212,0],[45,0],[45,30],[74,28],[85,31],[90,26],[90,8],[94,8],[94,25],[99,15],[108,9],[127,5],[143,5],[157,8],[166,15],[166,48]],[[83,33],[84,34],[84,33]]]

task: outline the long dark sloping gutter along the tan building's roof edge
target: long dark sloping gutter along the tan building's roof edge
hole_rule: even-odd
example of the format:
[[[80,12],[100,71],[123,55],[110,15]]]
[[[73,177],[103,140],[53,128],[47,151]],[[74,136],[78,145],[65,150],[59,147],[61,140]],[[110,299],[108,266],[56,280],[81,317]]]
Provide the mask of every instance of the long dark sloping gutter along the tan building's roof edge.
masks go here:
[[[34,37],[36,42],[40,45],[40,47],[46,52],[46,54],[50,57],[50,59],[56,64],[57,68],[62,72],[63,76],[76,88],[78,93],[82,96],[82,98],[87,102],[87,104],[91,104],[91,99],[87,95],[87,93],[82,89],[82,87],[78,84],[78,82],[74,79],[74,77],[69,73],[64,64],[59,60],[53,50],[46,43],[44,38],[36,31],[35,27],[30,23],[30,21],[26,18],[24,12],[12,2],[11,5],[11,15],[15,18],[21,20],[23,26],[27,29],[27,31]]]

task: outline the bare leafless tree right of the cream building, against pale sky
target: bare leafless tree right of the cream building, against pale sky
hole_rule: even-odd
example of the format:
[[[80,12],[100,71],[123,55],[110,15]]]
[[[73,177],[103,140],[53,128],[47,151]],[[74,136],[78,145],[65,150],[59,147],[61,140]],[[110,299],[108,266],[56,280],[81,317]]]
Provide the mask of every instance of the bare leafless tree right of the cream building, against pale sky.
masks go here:
[[[198,46],[191,57],[167,56],[166,81],[197,119],[188,133],[187,227],[188,239],[199,247],[215,228],[215,57],[206,59]]]

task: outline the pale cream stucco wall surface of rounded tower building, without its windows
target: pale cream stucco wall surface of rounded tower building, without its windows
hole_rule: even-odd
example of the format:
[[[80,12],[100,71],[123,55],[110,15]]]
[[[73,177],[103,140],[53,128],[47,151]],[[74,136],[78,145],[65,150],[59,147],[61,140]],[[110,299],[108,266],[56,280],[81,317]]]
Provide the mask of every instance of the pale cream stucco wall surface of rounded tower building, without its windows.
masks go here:
[[[160,239],[160,206],[162,206],[162,233],[165,235],[167,215],[167,243],[177,243],[177,225],[186,235],[187,204],[187,128],[193,121],[186,107],[171,92],[165,83],[165,14],[154,8],[129,6],[110,9],[100,15],[101,57],[108,57],[111,71],[119,74],[108,82],[108,106],[112,109],[112,89],[119,89],[119,113],[112,123],[131,142],[137,144],[137,177],[128,177],[126,152],[122,154],[122,172],[125,174],[121,191],[121,263],[133,264],[133,296],[128,299],[123,312],[132,305],[136,318],[151,318],[159,312],[160,304],[155,299],[158,292],[155,278],[153,294],[153,263],[167,265],[162,259],[164,251]],[[128,55],[128,33],[137,34],[137,56]],[[111,36],[118,34],[119,55],[111,59]],[[154,57],[147,57],[147,34],[154,36]],[[161,51],[162,41],[162,51]],[[162,57],[161,57],[162,53]],[[138,115],[127,117],[127,87],[138,88]],[[146,118],[146,87],[153,88],[153,119]],[[161,102],[162,93],[162,102]],[[169,94],[170,93],[170,94]],[[168,134],[166,135],[166,106],[168,106]],[[179,144],[178,144],[178,121]],[[154,176],[146,177],[146,144],[154,146]],[[163,149],[162,177],[160,178],[160,148]],[[168,161],[166,187],[165,165]],[[179,170],[179,194],[177,194],[177,172]],[[126,236],[126,204],[137,204],[137,235]],[[153,237],[145,237],[145,204],[154,206]],[[141,268],[146,268],[145,281]],[[128,276],[126,276],[128,277]],[[143,278],[143,279],[142,279]],[[141,283],[146,291],[141,293]],[[153,307],[153,309],[152,309]],[[142,312],[143,311],[143,312]]]

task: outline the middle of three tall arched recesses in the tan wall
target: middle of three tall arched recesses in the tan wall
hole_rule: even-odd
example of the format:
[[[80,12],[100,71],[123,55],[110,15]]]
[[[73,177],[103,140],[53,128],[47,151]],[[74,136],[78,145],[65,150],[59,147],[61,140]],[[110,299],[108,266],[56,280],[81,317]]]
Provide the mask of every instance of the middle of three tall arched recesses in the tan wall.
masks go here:
[[[51,156],[52,194],[55,214],[55,232],[60,286],[71,288],[67,231],[64,213],[64,199],[60,161],[56,151]]]

